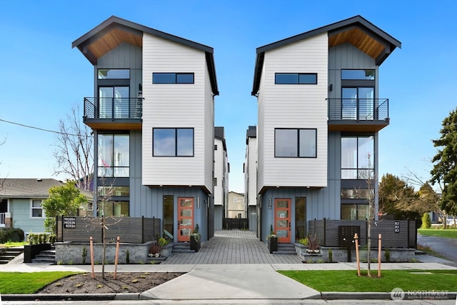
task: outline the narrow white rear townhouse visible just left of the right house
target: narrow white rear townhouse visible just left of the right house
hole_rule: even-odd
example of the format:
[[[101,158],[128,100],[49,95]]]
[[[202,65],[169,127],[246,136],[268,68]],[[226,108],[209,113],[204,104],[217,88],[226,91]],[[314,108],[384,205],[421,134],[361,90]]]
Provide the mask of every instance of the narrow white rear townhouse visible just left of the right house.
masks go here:
[[[244,201],[248,209],[249,229],[258,231],[257,219],[257,128],[246,131],[246,156],[243,164]]]

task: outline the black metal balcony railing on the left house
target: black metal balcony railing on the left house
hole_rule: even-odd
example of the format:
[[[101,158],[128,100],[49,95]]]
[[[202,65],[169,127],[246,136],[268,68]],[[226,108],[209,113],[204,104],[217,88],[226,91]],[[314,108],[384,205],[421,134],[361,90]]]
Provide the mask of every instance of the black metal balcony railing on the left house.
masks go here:
[[[86,119],[141,119],[143,99],[142,97],[85,97],[84,117]]]

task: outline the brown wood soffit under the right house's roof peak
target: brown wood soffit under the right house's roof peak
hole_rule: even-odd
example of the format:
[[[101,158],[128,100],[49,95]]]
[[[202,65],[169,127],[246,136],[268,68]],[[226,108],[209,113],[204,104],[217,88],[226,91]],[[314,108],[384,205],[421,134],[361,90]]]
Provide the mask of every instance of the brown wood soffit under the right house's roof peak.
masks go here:
[[[360,49],[368,56],[371,56],[373,59],[377,59],[386,47],[374,39],[373,36],[366,34],[366,32],[358,28],[351,28],[328,36],[329,48],[346,42],[356,46],[356,48]]]

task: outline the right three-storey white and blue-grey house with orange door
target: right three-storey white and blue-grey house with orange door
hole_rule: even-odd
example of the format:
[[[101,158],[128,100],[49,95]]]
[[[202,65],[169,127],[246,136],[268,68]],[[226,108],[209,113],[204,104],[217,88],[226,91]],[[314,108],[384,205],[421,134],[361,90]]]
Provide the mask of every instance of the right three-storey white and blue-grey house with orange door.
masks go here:
[[[263,241],[271,225],[290,243],[311,219],[368,217],[367,178],[378,180],[378,131],[389,124],[378,68],[397,47],[354,16],[256,50]]]

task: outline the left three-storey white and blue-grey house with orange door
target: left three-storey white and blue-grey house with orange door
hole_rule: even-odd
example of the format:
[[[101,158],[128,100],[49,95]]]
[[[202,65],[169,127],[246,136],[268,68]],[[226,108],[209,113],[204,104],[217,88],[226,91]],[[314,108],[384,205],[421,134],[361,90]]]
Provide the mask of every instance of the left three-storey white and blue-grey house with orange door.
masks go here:
[[[161,219],[163,235],[214,235],[213,49],[111,16],[72,44],[94,66],[84,123],[106,215]],[[96,209],[94,209],[96,211]]]

